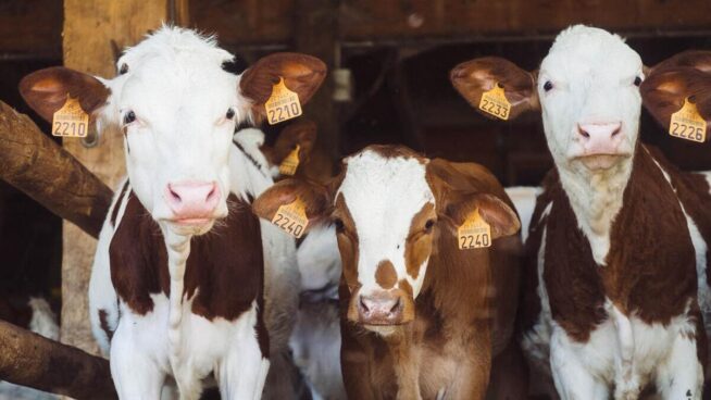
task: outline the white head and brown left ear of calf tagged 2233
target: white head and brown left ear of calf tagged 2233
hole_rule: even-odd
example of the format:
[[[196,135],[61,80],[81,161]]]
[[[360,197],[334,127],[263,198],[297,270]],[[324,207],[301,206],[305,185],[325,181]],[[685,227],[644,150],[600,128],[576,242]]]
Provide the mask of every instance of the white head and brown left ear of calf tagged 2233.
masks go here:
[[[558,35],[537,72],[483,58],[458,65],[450,78],[475,108],[483,92],[501,85],[512,104],[511,117],[541,111],[559,167],[599,171],[634,152],[643,71],[641,59],[622,38],[577,25]]]

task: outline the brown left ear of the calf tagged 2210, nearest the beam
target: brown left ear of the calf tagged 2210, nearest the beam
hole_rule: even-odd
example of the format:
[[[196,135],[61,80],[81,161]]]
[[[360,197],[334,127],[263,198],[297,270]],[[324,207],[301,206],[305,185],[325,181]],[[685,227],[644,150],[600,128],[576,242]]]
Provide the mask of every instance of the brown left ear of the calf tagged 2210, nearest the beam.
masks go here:
[[[20,95],[50,123],[67,96],[79,99],[82,109],[91,115],[107,103],[110,93],[111,90],[93,76],[63,66],[36,71],[20,82]]]

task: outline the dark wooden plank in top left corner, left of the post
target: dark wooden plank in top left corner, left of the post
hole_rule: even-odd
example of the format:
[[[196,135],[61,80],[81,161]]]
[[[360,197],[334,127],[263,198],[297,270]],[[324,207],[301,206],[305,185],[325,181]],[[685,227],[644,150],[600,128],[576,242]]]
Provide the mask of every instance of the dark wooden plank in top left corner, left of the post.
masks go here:
[[[22,0],[0,2],[0,53],[35,59],[62,55],[62,2]]]

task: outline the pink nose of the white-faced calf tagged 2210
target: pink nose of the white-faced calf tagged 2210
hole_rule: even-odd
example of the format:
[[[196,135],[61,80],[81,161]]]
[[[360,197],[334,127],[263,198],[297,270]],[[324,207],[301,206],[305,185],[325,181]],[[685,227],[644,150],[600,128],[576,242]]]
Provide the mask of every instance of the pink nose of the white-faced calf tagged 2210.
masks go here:
[[[210,218],[220,201],[220,188],[214,182],[167,184],[165,199],[176,220]]]

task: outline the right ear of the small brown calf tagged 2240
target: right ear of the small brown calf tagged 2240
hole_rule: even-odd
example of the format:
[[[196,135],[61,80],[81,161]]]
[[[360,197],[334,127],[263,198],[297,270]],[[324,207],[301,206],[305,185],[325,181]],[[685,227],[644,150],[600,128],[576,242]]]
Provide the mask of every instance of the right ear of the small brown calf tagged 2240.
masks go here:
[[[452,193],[450,193],[452,196]],[[519,232],[521,222],[516,213],[498,197],[486,193],[467,193],[457,196],[445,207],[445,215],[451,224],[447,224],[453,235],[466,217],[476,209],[479,215],[491,228],[491,238],[511,236]]]

